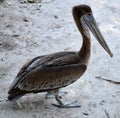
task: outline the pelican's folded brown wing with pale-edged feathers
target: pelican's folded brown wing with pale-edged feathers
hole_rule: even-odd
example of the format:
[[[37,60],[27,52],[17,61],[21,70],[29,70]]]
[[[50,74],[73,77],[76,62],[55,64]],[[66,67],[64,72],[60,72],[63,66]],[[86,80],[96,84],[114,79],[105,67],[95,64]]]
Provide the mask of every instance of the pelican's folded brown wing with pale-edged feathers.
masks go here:
[[[80,64],[76,52],[39,56],[23,66],[8,93],[15,90],[35,92],[60,88],[75,81],[85,70],[86,65]]]

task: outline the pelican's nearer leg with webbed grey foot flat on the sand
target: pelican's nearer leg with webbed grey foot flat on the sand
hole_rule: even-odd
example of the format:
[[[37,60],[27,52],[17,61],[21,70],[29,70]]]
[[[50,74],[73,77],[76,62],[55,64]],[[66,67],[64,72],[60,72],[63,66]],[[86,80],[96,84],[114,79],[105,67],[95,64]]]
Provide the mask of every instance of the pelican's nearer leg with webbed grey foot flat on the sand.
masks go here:
[[[71,103],[63,103],[62,98],[58,95],[57,92],[54,93],[55,99],[58,102],[58,104],[52,104],[56,107],[59,108],[76,108],[76,107],[81,107],[77,101],[71,102]]]

